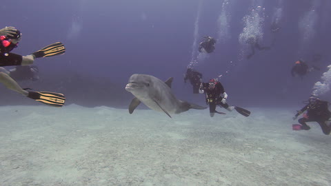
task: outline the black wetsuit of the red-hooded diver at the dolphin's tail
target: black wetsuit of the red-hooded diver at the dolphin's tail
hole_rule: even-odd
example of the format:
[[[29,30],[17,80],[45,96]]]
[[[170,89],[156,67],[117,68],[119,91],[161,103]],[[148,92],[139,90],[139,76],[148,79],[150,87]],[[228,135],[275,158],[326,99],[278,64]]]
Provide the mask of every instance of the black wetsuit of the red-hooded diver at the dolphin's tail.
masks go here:
[[[205,101],[209,105],[209,112],[216,112],[217,105],[227,109],[229,107],[228,103],[223,104],[221,102],[221,100],[223,99],[223,97],[221,97],[221,94],[225,92],[223,85],[219,81],[217,81],[214,89],[210,90],[208,86],[209,83],[203,83],[202,90],[204,91],[206,96]]]

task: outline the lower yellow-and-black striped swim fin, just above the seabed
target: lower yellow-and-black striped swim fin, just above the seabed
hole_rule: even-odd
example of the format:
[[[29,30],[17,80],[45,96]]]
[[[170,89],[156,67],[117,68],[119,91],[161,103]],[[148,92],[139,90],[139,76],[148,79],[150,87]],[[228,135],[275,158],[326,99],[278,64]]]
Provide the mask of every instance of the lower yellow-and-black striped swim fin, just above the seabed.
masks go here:
[[[29,92],[28,98],[53,107],[62,107],[66,101],[63,94],[54,92]]]

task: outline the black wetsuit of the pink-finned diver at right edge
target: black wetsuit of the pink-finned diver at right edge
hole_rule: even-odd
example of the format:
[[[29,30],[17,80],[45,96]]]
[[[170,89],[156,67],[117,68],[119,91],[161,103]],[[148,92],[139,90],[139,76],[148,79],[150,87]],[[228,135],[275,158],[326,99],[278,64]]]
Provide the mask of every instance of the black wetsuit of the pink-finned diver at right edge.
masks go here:
[[[295,116],[299,116],[307,110],[306,117],[299,118],[301,129],[310,130],[310,127],[305,122],[315,121],[319,123],[324,134],[330,134],[331,128],[326,124],[326,121],[331,117],[331,112],[328,110],[328,101],[316,100],[313,104],[305,105]]]

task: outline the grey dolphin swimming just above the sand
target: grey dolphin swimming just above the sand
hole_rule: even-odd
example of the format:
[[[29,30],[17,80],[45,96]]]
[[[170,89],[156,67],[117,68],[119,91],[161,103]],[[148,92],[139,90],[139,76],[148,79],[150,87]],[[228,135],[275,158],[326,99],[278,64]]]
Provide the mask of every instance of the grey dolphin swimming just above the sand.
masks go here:
[[[207,108],[177,99],[170,89],[172,79],[173,77],[170,77],[163,82],[154,76],[132,74],[126,85],[126,90],[134,95],[134,99],[129,105],[130,114],[141,102],[152,110],[164,112],[170,118],[170,114],[179,114],[190,109],[203,110]]]

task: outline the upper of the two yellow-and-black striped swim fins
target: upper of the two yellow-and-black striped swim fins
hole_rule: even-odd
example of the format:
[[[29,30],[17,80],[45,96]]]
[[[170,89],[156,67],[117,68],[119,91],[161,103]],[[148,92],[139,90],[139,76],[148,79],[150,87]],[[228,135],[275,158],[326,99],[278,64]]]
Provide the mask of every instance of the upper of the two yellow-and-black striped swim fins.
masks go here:
[[[40,57],[48,57],[48,56],[57,56],[64,54],[66,52],[66,48],[61,42],[54,43],[52,45],[48,45],[37,52],[32,53],[36,58]]]

